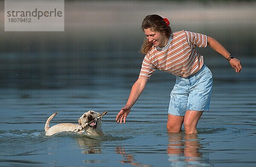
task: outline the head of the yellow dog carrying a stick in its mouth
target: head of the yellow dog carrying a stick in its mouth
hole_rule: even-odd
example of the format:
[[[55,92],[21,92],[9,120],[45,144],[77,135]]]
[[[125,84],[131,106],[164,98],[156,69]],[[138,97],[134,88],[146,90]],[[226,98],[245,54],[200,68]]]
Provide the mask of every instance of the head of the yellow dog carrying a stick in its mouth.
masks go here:
[[[101,119],[96,119],[99,114],[100,113],[96,111],[89,110],[78,119],[78,124],[84,127],[84,130],[88,134],[102,135],[102,121]],[[89,123],[89,125],[86,126],[87,123]]]

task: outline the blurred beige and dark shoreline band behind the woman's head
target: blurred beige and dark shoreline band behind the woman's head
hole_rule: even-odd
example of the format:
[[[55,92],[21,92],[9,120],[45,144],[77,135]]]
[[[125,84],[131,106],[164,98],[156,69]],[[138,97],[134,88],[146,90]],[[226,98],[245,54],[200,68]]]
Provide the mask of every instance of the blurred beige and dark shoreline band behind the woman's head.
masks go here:
[[[3,0],[0,6],[4,23]],[[256,1],[66,0],[64,32],[5,32],[1,24],[0,52],[138,51],[144,38],[140,25],[148,14],[169,18],[174,31],[200,32],[224,44],[237,36],[236,45],[248,39],[255,44],[255,6]]]

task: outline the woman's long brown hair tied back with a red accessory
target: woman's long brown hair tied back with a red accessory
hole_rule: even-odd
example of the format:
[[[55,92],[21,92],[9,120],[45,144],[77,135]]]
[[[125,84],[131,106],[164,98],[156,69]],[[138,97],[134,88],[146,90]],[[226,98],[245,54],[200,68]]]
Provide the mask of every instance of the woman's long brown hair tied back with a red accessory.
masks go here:
[[[152,14],[148,15],[144,18],[141,29],[144,31],[144,29],[150,29],[151,31],[160,32],[164,34],[167,38],[171,36],[172,29],[169,25],[166,24],[165,20],[163,20],[163,17]],[[149,42],[148,39],[144,39],[143,44],[140,49],[140,53],[147,54],[148,51],[152,48],[153,43]]]

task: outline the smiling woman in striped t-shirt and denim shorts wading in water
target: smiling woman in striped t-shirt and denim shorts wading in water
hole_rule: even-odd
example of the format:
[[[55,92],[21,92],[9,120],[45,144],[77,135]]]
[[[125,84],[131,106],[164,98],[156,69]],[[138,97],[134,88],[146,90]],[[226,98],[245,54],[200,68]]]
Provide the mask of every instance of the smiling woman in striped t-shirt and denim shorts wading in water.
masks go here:
[[[143,92],[148,79],[159,69],[176,76],[168,109],[168,132],[180,132],[184,124],[185,133],[197,133],[196,126],[201,115],[209,110],[212,73],[204,65],[203,56],[195,47],[209,45],[230,62],[236,73],[241,71],[240,61],[212,37],[189,31],[172,32],[168,19],[157,14],[146,16],[141,28],[146,39],[141,48],[145,57],[140,76],[131,88],[126,105],[117,114],[116,122],[126,122],[126,117]]]

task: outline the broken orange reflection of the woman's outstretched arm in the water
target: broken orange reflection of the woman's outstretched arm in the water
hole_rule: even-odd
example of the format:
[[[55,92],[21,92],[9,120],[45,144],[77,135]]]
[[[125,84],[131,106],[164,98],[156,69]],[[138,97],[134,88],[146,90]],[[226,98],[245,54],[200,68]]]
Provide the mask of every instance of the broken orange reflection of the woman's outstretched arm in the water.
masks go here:
[[[152,167],[151,165],[145,165],[138,162],[135,162],[136,159],[134,159],[134,155],[132,154],[126,154],[124,147],[116,147],[116,153],[121,154],[123,156],[123,160],[121,163],[129,163],[135,167]]]

